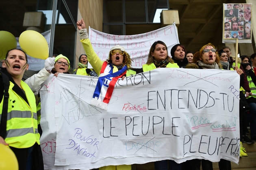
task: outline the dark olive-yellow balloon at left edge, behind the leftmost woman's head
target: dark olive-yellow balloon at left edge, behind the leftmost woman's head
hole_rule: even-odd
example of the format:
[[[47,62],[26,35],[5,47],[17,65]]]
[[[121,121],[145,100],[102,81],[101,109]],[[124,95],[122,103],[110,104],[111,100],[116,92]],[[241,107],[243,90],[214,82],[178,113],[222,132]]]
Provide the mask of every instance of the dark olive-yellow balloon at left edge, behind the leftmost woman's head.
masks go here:
[[[17,47],[14,35],[8,31],[0,31],[0,59],[4,59],[7,51]]]

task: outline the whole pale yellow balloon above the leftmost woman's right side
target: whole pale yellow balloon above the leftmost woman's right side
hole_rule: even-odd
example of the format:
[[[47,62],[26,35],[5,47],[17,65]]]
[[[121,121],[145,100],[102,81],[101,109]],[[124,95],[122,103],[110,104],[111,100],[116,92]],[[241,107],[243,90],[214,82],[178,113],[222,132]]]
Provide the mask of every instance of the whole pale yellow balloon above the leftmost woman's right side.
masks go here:
[[[34,58],[45,60],[49,56],[48,43],[46,39],[37,31],[26,30],[20,34],[20,47]]]

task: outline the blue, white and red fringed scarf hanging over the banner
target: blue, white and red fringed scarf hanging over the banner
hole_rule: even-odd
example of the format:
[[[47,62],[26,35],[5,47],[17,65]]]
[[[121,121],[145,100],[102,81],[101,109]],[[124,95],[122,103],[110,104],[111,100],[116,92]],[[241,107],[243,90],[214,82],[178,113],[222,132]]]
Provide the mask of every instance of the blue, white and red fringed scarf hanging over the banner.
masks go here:
[[[90,105],[94,105],[103,110],[108,109],[108,102],[112,96],[115,83],[126,74],[127,66],[113,73],[113,66],[104,61],[100,70],[100,76],[96,84]]]

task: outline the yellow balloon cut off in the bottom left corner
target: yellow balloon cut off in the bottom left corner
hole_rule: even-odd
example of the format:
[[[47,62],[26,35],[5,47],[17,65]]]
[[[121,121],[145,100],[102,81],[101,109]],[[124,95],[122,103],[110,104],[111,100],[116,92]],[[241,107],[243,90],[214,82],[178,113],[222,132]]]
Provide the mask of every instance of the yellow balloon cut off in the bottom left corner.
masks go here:
[[[4,144],[0,144],[0,170],[19,170],[15,154]]]

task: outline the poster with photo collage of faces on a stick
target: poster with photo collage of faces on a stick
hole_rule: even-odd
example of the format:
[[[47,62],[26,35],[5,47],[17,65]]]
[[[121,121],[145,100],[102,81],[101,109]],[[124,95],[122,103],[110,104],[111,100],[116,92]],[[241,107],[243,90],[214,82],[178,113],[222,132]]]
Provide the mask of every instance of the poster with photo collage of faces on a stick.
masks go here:
[[[223,4],[222,43],[252,43],[252,4]]]

